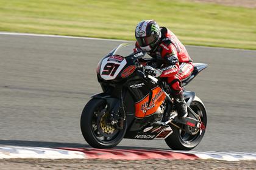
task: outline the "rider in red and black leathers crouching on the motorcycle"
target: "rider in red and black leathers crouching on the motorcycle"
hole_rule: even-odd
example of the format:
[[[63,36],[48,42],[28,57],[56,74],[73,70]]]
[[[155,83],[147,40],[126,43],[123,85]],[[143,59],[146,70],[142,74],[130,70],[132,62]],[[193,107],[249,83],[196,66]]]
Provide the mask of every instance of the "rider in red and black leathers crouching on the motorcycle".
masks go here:
[[[187,105],[183,97],[181,81],[188,78],[194,69],[187,50],[171,30],[159,27],[154,20],[139,22],[135,29],[135,37],[137,39],[135,46],[138,49],[147,52],[158,61],[157,63],[162,63],[156,69],[146,66],[145,72],[154,77],[166,78],[172,89],[178,117],[187,117]]]

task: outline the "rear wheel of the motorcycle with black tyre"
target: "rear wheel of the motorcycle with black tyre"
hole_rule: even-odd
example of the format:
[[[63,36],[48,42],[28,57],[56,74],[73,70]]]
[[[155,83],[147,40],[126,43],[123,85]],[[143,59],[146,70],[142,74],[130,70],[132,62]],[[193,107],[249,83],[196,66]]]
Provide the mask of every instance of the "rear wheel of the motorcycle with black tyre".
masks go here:
[[[207,115],[206,109],[204,107],[204,103],[200,100],[200,98],[195,97],[194,100],[190,103],[191,109],[200,117],[202,124],[206,127],[207,124]],[[190,117],[190,112],[188,112],[188,116]],[[205,128],[202,131],[197,132],[196,134],[188,134],[185,131],[178,129],[177,127],[171,125],[173,133],[169,135],[168,138],[165,139],[166,144],[173,150],[183,150],[190,151],[194,149],[202,140],[205,133]],[[185,127],[182,127],[185,129]]]

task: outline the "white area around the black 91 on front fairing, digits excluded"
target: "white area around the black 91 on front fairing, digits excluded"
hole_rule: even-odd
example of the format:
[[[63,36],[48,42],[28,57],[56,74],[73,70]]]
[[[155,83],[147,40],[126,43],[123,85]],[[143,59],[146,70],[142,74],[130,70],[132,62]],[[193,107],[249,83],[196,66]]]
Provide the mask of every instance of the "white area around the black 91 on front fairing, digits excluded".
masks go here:
[[[126,60],[124,59],[123,61],[121,61],[121,63],[118,63],[117,61],[108,61],[108,58],[105,58],[102,63],[101,63],[101,77],[104,80],[113,80],[116,78],[116,76],[118,75],[119,72],[121,72],[121,70],[124,68],[124,66],[126,66]],[[106,64],[108,63],[114,63],[114,64],[119,64],[118,69],[115,71],[115,74],[112,76],[111,73],[109,75],[102,75],[102,72],[104,72],[104,67],[106,66]]]

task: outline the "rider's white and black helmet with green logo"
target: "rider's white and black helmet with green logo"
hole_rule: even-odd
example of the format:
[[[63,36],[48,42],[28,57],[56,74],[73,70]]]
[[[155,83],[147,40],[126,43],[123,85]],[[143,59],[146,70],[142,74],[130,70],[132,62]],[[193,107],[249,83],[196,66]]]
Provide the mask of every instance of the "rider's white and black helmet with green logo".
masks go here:
[[[161,38],[160,28],[154,20],[144,20],[138,23],[135,37],[144,51],[154,50]]]

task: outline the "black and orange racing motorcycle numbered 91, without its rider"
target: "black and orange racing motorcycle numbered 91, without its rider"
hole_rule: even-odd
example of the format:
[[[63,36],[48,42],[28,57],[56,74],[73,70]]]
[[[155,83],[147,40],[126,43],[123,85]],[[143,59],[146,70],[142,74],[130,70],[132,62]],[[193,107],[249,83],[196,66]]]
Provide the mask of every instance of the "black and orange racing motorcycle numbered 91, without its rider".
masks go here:
[[[174,150],[191,150],[200,143],[207,125],[206,109],[194,92],[183,91],[188,117],[179,119],[164,78],[144,72],[154,58],[121,44],[98,64],[97,77],[103,92],[88,101],[80,118],[82,135],[94,148],[113,148],[123,138],[165,140]],[[141,64],[141,61],[144,63]],[[207,64],[194,63],[186,86]]]

